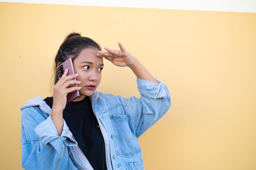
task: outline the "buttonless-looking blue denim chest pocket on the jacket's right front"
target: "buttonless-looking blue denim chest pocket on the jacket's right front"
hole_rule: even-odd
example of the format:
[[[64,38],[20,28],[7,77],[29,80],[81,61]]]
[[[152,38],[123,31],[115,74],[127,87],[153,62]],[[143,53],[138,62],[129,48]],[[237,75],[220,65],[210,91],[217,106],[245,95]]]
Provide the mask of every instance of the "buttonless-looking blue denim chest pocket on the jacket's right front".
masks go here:
[[[129,127],[126,115],[109,115],[114,129],[115,151],[120,157],[132,158],[141,152],[139,141]]]

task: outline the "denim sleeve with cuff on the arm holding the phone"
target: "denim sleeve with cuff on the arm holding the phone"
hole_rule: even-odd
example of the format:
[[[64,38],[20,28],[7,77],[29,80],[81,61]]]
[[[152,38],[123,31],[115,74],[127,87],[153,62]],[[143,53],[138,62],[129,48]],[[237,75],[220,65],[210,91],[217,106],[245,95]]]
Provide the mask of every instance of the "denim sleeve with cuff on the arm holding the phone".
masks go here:
[[[22,168],[26,170],[65,170],[68,165],[67,146],[76,146],[64,121],[58,136],[51,116],[38,107],[27,107],[21,116]]]

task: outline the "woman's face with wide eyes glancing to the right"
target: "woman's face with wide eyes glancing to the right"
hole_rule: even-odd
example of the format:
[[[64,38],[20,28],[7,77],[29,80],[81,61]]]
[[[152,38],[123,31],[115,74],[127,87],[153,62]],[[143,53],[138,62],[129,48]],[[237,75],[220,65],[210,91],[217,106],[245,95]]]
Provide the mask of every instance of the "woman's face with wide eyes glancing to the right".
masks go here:
[[[74,101],[79,101],[84,96],[91,96],[101,82],[101,70],[103,69],[103,58],[97,57],[98,49],[83,49],[73,61],[74,71],[78,73],[76,80],[81,81],[78,86],[80,97]]]

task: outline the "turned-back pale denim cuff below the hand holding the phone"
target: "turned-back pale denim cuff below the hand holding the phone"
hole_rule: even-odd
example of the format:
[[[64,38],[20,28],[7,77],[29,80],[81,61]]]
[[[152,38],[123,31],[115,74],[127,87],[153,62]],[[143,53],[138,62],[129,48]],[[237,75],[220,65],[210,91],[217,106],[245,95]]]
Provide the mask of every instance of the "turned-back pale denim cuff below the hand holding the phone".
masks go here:
[[[72,139],[72,133],[67,127],[64,119],[63,121],[63,131],[60,136],[61,140],[66,146],[77,146],[77,142]],[[41,122],[38,126],[36,126],[35,132],[36,135],[38,135],[38,137],[42,140],[44,145],[59,137],[58,131],[54,125],[54,122],[52,121],[51,115],[49,115],[49,117],[45,121]]]

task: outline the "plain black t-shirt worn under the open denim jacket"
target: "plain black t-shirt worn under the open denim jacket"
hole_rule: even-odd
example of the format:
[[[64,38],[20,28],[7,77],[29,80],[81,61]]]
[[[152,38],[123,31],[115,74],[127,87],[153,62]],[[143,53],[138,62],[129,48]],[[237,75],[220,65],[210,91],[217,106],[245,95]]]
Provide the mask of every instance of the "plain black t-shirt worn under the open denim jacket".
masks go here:
[[[44,101],[52,108],[53,97],[47,97]],[[107,170],[105,142],[89,97],[79,102],[67,103],[63,110],[63,119],[92,168]]]

